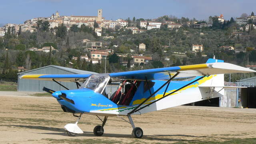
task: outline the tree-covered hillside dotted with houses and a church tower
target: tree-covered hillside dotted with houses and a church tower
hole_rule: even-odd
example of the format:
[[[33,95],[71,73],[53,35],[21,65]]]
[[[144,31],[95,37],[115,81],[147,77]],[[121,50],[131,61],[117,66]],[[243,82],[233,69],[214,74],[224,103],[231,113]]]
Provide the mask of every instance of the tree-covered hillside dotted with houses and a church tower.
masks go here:
[[[252,12],[249,16],[242,14],[241,17],[230,20],[225,20],[224,14],[209,16],[208,20],[177,18],[175,16],[161,16],[155,19],[136,19],[134,17],[132,19],[106,20],[102,9],[98,9],[97,16],[61,16],[56,11],[49,17],[25,20],[24,24],[5,24],[0,28],[0,40],[4,44],[2,45],[4,48],[2,60],[6,59],[6,53],[13,50],[25,52],[23,56],[20,56],[25,62],[12,66],[18,72],[47,64],[103,72],[104,68],[102,67],[106,61],[108,61],[107,72],[120,71],[124,68],[140,70],[193,64],[187,59],[218,56],[220,51],[234,52],[237,56],[249,52],[248,49],[254,51],[254,46],[238,42],[231,44],[223,41],[216,44],[216,48],[211,48],[213,45],[202,41],[206,36],[209,36],[210,32],[214,32],[212,30],[218,32],[218,29],[225,31],[223,34],[230,40],[250,37],[256,29],[256,16]],[[153,32],[155,34],[168,32],[170,38],[157,38],[157,34],[152,35]],[[81,36],[76,35],[76,33],[81,34]],[[88,35],[84,35],[86,33]],[[176,38],[180,35],[180,40],[182,40],[197,33],[201,40],[194,40],[187,44],[179,42]],[[29,39],[33,34],[36,34],[37,38],[34,43],[25,42],[25,44],[21,38],[23,34],[30,35]],[[150,36],[150,40],[146,39],[145,36],[147,35]],[[138,36],[142,37],[138,38]],[[140,40],[141,38],[142,40]],[[58,54],[63,55],[65,52],[67,52],[67,58],[58,58]],[[42,63],[32,62],[33,56],[30,54],[36,54],[38,58],[43,57],[43,59],[53,55],[51,58],[54,60]],[[54,55],[56,58],[53,58]],[[251,61],[253,64],[254,60]],[[3,61],[2,68],[4,63]],[[83,63],[86,64],[83,65]],[[118,64],[111,66],[111,63]],[[90,68],[97,64],[100,69]],[[250,67],[249,64],[247,65]]]

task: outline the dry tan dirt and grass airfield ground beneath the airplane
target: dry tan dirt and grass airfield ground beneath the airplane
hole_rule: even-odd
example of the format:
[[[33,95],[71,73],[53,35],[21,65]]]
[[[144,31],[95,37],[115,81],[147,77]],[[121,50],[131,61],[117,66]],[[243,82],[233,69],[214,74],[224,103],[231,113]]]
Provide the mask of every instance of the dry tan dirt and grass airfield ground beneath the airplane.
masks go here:
[[[69,137],[63,127],[76,118],[62,112],[56,99],[0,92],[0,100],[0,144],[256,143],[256,109],[178,106],[132,116],[144,131],[142,139],[134,139],[130,124],[118,117],[109,118],[103,136],[94,136],[101,122],[84,114],[78,123],[84,134]]]

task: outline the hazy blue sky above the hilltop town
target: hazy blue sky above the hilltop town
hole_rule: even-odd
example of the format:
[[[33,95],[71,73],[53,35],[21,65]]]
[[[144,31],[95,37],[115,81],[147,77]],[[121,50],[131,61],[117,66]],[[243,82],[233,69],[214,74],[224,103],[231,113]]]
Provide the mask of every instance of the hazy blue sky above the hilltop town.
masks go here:
[[[256,14],[256,0],[1,0],[0,24],[22,24],[32,18],[49,17],[57,10],[60,16],[97,16],[98,9],[107,20],[164,15],[208,20],[220,14],[229,20],[242,13]]]

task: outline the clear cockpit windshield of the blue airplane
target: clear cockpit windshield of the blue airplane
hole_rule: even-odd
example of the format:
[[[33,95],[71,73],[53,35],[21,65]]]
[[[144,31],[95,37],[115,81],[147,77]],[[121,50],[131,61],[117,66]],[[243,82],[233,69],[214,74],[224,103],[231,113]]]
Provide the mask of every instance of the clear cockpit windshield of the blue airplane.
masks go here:
[[[108,74],[93,74],[80,86],[79,89],[89,88],[94,90],[94,92],[102,94],[109,80],[110,76]]]

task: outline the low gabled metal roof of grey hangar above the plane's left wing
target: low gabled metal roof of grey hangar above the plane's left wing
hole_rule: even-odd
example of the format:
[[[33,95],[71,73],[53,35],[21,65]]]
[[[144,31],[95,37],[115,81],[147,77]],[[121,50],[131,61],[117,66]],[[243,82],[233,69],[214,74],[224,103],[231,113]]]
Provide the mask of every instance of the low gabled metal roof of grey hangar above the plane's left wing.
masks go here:
[[[97,74],[96,72],[90,72],[90,71],[86,71],[86,70],[77,70],[77,69],[74,69],[74,68],[66,68],[66,67],[54,66],[54,65],[44,66],[42,68],[36,68],[34,70],[28,70],[28,71],[25,71],[25,72],[20,72],[18,74],[26,74],[28,72],[32,72],[32,71],[36,71],[36,70],[40,70],[40,69],[48,68],[48,67],[54,67],[54,68],[58,68],[58,69],[61,69],[61,70],[66,70],[66,71],[72,72],[74,74]]]

